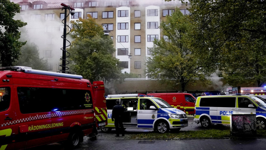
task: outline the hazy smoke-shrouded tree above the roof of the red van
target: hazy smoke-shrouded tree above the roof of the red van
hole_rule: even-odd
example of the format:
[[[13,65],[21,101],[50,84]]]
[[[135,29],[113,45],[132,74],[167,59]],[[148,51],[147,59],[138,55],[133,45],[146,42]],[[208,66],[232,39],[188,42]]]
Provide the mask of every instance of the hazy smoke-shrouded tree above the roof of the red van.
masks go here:
[[[48,70],[47,60],[39,58],[37,45],[31,43],[21,47],[21,55],[14,63],[15,66],[27,66],[37,70]]]

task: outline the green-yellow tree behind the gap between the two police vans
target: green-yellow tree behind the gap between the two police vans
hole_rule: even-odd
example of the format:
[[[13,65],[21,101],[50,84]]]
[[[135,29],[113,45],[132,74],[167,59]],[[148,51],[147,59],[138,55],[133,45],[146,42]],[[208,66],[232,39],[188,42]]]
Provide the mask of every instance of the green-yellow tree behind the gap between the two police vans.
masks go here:
[[[195,54],[191,52],[186,42],[192,26],[188,17],[179,9],[162,21],[160,28],[168,39],[154,41],[154,47],[150,50],[151,57],[147,57],[146,73],[161,80],[175,79],[176,84],[181,85],[182,91],[185,91],[189,81],[194,83],[196,79],[200,79],[206,84],[209,83],[202,73],[203,69],[197,63]]]

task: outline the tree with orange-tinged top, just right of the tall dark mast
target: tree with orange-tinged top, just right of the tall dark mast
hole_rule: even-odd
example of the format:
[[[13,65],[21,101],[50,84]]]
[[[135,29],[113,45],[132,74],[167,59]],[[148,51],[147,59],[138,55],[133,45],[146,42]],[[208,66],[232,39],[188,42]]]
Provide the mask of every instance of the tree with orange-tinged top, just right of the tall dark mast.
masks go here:
[[[74,41],[68,49],[70,68],[91,82],[122,78],[120,62],[112,56],[116,51],[113,41],[110,36],[103,35],[103,27],[90,15],[88,19],[79,18],[71,23]]]

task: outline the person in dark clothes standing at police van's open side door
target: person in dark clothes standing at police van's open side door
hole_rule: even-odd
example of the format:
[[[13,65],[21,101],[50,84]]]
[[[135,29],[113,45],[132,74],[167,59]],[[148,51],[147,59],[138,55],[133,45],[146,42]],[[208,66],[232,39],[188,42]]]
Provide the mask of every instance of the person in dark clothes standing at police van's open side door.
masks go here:
[[[119,104],[119,100],[116,100],[116,105],[113,107],[112,111],[112,121],[116,127],[116,137],[119,137],[119,133],[125,136],[124,126],[122,122],[122,114],[124,113],[124,107]],[[120,127],[120,128],[119,128]]]

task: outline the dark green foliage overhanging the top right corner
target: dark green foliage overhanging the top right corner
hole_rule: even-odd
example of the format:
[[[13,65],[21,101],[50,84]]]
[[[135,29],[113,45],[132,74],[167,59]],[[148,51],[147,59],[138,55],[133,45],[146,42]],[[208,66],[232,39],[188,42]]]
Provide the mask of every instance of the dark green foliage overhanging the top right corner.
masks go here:
[[[190,0],[191,31],[198,63],[224,71],[229,85],[266,79],[266,1]]]

